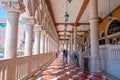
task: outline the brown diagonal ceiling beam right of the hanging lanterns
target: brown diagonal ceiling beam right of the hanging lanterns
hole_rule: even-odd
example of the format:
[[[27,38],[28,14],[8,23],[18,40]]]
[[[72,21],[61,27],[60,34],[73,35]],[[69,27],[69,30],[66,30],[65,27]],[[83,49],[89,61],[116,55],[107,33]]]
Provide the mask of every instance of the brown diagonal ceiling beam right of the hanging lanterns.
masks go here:
[[[82,17],[82,15],[83,15],[83,13],[84,13],[88,3],[89,3],[89,0],[84,0],[83,5],[82,5],[81,9],[79,10],[78,16],[77,16],[77,18],[75,20],[75,26],[78,25],[79,20]]]

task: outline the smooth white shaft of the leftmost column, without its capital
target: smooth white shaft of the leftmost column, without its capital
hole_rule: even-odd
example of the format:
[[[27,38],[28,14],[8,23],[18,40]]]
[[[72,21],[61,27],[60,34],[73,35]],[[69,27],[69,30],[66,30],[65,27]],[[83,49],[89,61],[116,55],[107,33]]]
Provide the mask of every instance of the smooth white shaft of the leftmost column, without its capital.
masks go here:
[[[8,13],[5,38],[5,58],[16,57],[19,13]]]

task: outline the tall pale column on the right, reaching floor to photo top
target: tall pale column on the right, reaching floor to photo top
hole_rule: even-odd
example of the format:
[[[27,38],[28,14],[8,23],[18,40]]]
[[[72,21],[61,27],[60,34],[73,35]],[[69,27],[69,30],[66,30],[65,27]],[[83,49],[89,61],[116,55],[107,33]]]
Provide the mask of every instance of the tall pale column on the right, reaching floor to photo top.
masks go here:
[[[91,72],[100,72],[98,0],[90,0]]]

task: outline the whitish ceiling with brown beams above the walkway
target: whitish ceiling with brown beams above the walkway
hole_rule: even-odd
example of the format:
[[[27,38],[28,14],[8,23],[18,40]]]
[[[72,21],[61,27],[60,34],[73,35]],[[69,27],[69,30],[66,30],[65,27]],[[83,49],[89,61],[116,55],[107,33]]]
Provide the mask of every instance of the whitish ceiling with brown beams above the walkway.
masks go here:
[[[64,39],[66,0],[46,0],[46,3],[59,38]],[[110,5],[109,0],[98,0],[98,15],[104,18],[118,6],[120,6],[120,0],[110,0]],[[89,30],[89,9],[89,0],[72,0],[70,4],[68,3],[67,38],[73,32],[73,27],[77,27],[77,35],[83,35]]]

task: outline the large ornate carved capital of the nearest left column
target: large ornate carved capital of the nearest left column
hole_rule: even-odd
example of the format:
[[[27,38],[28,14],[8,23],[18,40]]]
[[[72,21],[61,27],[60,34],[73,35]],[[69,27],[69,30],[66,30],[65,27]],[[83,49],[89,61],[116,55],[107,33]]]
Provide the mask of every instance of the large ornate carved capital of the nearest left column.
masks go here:
[[[8,13],[25,12],[25,5],[22,0],[2,0],[0,6],[2,6]]]

